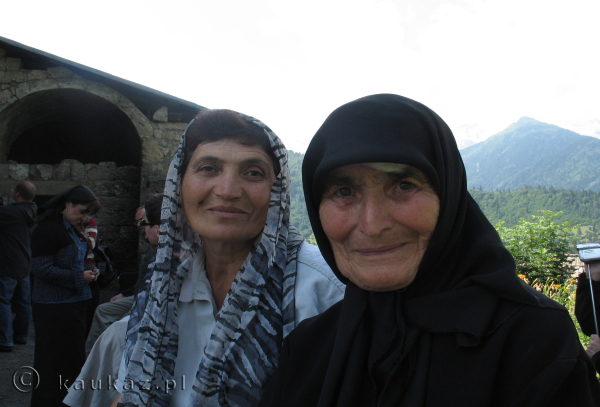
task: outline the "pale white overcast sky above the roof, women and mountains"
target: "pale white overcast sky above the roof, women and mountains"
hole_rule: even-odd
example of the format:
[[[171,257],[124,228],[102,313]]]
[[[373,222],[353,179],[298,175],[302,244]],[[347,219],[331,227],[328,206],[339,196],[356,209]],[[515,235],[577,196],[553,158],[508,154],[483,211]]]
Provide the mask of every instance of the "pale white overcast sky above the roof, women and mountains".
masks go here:
[[[0,36],[265,122],[303,152],[373,93],[459,141],[522,116],[600,137],[598,0],[0,0]]]

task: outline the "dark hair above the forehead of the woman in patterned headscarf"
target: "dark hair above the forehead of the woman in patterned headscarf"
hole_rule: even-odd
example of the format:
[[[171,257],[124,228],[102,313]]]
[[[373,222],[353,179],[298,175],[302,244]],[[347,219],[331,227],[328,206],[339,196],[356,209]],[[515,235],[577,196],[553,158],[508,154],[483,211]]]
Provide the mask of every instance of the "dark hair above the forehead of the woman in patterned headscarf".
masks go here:
[[[264,130],[233,110],[201,110],[194,117],[185,134],[182,177],[199,145],[220,140],[235,140],[245,146],[260,146],[271,158],[275,174],[279,173],[279,160],[275,157],[269,137]]]

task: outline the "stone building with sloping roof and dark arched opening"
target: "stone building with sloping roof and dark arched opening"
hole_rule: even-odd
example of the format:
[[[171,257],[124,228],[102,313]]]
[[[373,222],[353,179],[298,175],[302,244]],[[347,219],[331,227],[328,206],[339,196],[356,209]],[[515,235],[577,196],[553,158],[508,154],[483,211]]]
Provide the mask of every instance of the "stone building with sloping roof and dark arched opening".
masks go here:
[[[39,204],[72,186],[99,197],[99,233],[135,267],[133,213],[162,193],[187,123],[202,106],[0,37],[0,195],[20,180]]]

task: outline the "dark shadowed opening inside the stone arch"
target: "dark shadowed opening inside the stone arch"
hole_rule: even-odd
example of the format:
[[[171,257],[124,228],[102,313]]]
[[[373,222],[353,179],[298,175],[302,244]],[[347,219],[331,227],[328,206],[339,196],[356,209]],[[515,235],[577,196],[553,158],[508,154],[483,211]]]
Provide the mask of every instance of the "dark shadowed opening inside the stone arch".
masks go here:
[[[74,89],[31,94],[0,113],[7,117],[6,161],[58,164],[114,161],[141,166],[141,140],[129,117],[110,102]]]

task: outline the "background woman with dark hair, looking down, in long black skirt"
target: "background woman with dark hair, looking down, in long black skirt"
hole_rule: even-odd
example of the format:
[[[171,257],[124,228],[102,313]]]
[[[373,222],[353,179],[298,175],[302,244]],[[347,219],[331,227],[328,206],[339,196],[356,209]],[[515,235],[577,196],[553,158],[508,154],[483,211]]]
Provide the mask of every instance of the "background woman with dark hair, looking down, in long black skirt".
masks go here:
[[[67,387],[85,362],[85,318],[97,269],[86,270],[87,240],[77,229],[100,209],[91,189],[70,188],[40,207],[31,240],[33,367],[39,385],[31,407],[62,406]]]

